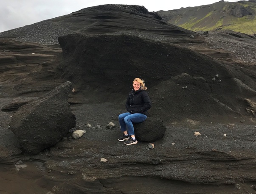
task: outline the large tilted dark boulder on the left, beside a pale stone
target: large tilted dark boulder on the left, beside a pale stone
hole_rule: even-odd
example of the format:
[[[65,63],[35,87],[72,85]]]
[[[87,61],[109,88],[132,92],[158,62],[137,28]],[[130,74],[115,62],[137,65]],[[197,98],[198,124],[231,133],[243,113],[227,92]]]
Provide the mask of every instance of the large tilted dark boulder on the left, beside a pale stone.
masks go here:
[[[72,83],[65,82],[34,102],[21,106],[13,115],[11,131],[24,152],[38,154],[55,145],[70,128],[76,117],[68,103]]]

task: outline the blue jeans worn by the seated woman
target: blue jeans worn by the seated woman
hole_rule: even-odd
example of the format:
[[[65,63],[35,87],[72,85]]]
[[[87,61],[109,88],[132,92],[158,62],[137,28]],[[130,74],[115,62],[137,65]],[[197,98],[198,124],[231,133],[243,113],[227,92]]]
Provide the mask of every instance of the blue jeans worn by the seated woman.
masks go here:
[[[143,122],[145,121],[147,116],[145,114],[141,113],[123,113],[118,116],[119,124],[121,126],[121,131],[126,131],[128,132],[129,136],[134,135],[134,127],[132,123],[138,123],[138,122]]]

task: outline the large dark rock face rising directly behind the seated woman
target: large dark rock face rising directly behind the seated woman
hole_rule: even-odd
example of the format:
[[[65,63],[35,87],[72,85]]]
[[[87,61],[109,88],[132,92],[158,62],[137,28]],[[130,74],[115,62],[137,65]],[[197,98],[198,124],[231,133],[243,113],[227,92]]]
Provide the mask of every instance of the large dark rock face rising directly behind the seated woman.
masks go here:
[[[126,34],[68,35],[59,37],[59,43],[63,50],[58,66],[62,78],[80,91],[122,94],[134,76],[143,78],[155,102],[152,115],[161,116],[165,122],[187,117],[209,122],[242,119],[248,114],[241,110],[246,106],[244,98],[256,94],[250,87],[241,89],[232,79],[239,71],[234,72],[230,65],[174,44]],[[250,77],[242,76],[249,84]],[[255,82],[250,85],[256,86]],[[233,91],[237,98],[233,98]]]

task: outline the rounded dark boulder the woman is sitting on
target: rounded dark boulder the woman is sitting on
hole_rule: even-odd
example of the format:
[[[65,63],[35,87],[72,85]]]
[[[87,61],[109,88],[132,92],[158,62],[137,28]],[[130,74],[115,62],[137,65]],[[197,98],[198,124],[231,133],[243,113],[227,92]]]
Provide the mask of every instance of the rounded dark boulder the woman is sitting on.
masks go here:
[[[149,117],[144,122],[134,123],[135,136],[140,141],[156,141],[162,138],[166,132],[163,121]]]

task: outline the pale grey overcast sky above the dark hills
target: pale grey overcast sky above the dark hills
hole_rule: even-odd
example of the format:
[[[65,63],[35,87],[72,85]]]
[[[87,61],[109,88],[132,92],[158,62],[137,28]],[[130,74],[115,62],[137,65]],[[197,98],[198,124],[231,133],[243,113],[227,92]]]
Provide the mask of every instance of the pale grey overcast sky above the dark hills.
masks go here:
[[[219,0],[0,0],[0,32],[70,14],[80,9],[125,4],[144,6],[148,11],[168,11],[216,3]],[[237,2],[238,0],[225,0]]]

